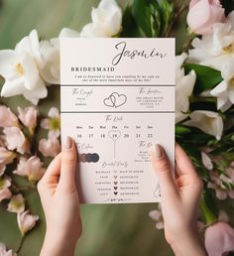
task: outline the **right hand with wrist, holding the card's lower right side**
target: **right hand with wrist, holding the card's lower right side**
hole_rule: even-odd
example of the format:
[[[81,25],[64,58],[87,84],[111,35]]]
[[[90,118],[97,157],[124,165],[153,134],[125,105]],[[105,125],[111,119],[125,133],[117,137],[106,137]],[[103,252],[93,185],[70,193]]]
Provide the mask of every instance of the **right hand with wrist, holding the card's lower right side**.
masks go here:
[[[151,151],[158,176],[165,236],[176,256],[206,256],[196,226],[202,182],[180,146],[176,145],[175,179],[167,154],[162,146]]]

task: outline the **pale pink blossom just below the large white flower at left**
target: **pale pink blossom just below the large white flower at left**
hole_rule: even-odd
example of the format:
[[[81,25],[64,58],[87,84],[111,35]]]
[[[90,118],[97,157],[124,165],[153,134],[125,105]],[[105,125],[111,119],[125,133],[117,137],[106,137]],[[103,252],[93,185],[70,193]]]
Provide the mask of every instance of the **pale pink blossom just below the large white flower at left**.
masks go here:
[[[19,112],[19,119],[21,122],[29,127],[31,131],[34,131],[35,127],[37,126],[37,116],[38,116],[38,110],[34,106],[26,107],[25,109],[22,109],[21,107],[18,107]]]

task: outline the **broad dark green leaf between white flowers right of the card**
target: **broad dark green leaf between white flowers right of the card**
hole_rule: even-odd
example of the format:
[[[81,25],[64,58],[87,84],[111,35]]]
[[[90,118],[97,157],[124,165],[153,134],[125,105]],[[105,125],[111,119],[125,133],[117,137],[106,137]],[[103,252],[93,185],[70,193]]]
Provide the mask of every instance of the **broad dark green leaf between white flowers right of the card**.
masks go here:
[[[193,92],[197,94],[212,89],[223,80],[221,71],[209,66],[201,64],[184,64],[184,69],[185,73],[188,73],[191,70],[195,71],[196,82]]]

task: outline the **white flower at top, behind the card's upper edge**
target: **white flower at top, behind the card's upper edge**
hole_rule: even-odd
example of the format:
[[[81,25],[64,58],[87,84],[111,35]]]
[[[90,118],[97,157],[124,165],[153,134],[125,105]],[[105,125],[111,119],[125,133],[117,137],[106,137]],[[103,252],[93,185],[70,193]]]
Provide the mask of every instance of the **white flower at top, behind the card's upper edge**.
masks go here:
[[[81,38],[110,38],[121,30],[122,11],[114,0],[102,0],[92,9],[92,23],[85,25]]]

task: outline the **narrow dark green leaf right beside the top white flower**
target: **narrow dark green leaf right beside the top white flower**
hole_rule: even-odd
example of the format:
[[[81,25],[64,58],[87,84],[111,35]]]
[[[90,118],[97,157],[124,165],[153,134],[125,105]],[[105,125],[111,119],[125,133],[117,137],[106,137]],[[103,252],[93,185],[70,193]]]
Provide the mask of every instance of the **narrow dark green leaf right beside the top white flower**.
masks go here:
[[[133,17],[132,6],[127,6],[124,11],[122,27],[121,38],[142,38],[144,36]]]

